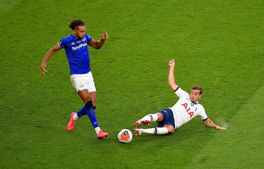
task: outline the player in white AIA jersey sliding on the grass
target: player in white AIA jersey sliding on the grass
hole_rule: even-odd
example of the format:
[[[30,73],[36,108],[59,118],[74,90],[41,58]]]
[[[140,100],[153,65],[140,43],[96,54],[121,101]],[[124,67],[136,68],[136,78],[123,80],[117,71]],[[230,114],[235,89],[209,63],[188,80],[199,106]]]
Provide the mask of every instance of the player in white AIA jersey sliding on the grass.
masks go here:
[[[191,94],[182,90],[175,84],[174,80],[174,59],[169,61],[169,85],[174,93],[180,98],[173,107],[169,107],[164,110],[160,110],[155,114],[148,114],[135,123],[136,127],[141,125],[149,125],[152,121],[158,122],[158,127],[149,129],[134,129],[136,136],[142,133],[147,134],[172,134],[176,128],[187,123],[195,116],[199,116],[204,123],[209,127],[224,130],[226,128],[219,127],[214,124],[206,115],[204,107],[198,103],[199,98],[202,96],[203,89],[201,86],[193,86]]]

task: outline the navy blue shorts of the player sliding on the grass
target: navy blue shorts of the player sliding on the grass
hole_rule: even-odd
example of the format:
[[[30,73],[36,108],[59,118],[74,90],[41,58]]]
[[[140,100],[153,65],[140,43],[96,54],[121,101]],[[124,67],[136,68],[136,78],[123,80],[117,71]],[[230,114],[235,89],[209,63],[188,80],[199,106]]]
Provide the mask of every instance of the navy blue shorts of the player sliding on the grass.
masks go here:
[[[162,127],[165,124],[169,124],[175,128],[175,121],[171,109],[163,109],[156,113],[161,113],[163,115],[162,121],[158,122],[158,127]]]

